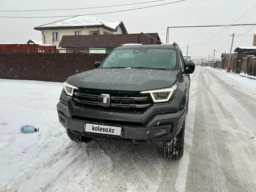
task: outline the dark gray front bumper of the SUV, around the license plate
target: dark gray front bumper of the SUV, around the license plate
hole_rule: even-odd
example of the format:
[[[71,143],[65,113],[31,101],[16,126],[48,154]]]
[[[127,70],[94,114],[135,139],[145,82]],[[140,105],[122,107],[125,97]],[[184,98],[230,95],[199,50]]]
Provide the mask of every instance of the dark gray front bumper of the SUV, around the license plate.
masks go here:
[[[154,144],[175,137],[179,133],[186,116],[186,109],[175,113],[157,114],[151,116],[151,118],[145,118],[145,114],[97,112],[93,109],[79,108],[71,100],[67,103],[60,101],[57,105],[57,111],[59,122],[61,122],[66,130],[69,129],[74,134],[93,138],[122,140],[135,144]],[[119,118],[117,118],[118,116]],[[123,123],[122,125],[121,136],[84,131],[85,123],[118,126],[116,123],[113,123],[118,122],[118,120],[112,121],[116,118],[127,122],[127,124]],[[144,121],[141,125],[134,123],[139,120],[147,120],[147,122],[145,123]]]

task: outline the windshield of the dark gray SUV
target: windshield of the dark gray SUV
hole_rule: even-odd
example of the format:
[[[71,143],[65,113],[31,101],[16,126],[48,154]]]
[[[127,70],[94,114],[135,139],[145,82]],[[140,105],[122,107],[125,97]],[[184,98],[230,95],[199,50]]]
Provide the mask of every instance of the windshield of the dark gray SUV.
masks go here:
[[[102,67],[179,69],[177,61],[176,49],[127,48],[112,51]]]

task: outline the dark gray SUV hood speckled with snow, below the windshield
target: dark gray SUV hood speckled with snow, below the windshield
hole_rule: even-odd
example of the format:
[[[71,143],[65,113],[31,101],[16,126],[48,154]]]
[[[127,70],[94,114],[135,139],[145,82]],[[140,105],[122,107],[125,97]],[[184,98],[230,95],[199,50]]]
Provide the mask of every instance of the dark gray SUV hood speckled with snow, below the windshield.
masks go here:
[[[172,87],[179,71],[157,69],[94,69],[67,78],[80,88],[119,91],[145,91]]]

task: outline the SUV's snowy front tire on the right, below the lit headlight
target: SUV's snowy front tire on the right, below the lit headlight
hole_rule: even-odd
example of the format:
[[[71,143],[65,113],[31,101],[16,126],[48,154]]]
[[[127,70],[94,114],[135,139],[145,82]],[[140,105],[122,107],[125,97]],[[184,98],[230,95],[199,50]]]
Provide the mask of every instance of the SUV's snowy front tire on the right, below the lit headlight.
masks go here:
[[[184,152],[185,120],[180,133],[168,141],[163,141],[163,154],[168,159],[180,159]]]

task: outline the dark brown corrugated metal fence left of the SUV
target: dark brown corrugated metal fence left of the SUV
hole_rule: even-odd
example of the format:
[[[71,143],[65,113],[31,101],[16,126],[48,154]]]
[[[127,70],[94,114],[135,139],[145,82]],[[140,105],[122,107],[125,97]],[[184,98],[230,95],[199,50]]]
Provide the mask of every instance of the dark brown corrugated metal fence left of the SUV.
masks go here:
[[[0,79],[63,82],[94,69],[108,54],[4,54],[0,53]]]

